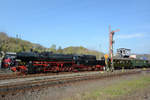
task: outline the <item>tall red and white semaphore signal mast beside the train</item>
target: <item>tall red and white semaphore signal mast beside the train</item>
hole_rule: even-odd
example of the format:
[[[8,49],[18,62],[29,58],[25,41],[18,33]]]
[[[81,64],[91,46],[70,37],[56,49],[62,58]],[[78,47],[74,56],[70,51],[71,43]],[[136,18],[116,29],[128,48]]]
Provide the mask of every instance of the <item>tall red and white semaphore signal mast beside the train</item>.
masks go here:
[[[113,37],[114,37],[115,32],[119,32],[119,31],[120,31],[120,29],[112,31],[111,26],[109,26],[109,57],[110,57],[110,60],[111,60],[111,71],[114,70],[114,64],[113,64],[113,44],[114,44],[114,40],[113,40]]]

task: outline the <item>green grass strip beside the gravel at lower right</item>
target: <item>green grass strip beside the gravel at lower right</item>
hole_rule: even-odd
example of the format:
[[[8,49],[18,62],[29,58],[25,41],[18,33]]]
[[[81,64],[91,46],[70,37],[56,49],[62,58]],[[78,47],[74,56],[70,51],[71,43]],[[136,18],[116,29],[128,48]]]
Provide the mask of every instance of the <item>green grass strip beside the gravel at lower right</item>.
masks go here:
[[[99,87],[93,91],[83,94],[77,94],[75,97],[69,97],[66,100],[108,100],[130,94],[138,89],[150,85],[150,75],[140,76],[133,80],[121,80],[106,88]]]

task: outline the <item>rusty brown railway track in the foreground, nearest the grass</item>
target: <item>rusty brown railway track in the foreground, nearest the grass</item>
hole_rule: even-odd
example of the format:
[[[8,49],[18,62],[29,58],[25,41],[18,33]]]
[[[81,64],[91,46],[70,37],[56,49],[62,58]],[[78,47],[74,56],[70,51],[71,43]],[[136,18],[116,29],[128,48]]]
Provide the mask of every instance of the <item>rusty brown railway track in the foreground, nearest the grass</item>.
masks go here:
[[[0,80],[0,95],[7,95],[9,93],[18,93],[30,89],[39,89],[49,86],[56,86],[61,84],[68,84],[82,80],[103,79],[111,77],[119,77],[122,75],[131,75],[141,73],[141,69],[125,70],[115,72],[86,72],[86,73],[73,73],[61,74],[53,76],[39,76],[39,77],[26,77],[17,79]]]

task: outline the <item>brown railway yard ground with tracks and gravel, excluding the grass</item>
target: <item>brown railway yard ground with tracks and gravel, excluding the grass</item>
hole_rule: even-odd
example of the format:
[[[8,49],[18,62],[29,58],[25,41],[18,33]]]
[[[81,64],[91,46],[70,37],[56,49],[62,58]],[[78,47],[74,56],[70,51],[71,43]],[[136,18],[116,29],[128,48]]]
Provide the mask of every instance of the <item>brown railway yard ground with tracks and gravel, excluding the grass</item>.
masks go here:
[[[113,82],[119,80],[125,81],[126,78],[135,79],[134,77],[149,75],[149,71],[150,69],[148,68],[116,70],[114,72],[85,71],[76,73],[62,72],[59,74],[44,73],[19,76],[14,73],[1,74],[0,100],[91,100],[91,97],[88,94],[90,91],[94,91],[94,89],[100,87],[104,88],[105,86],[103,85],[108,85],[107,87],[109,87],[112,84],[116,84]],[[82,94],[87,97],[85,98]],[[101,94],[99,94],[99,96],[100,95]],[[125,95],[128,94],[126,93]],[[101,100],[102,98],[99,98],[99,96],[97,94],[94,98]],[[110,99],[109,96],[108,98],[105,96],[102,97],[102,100]],[[94,98],[92,95],[93,100]]]

